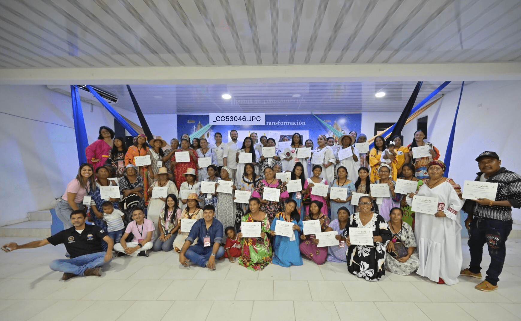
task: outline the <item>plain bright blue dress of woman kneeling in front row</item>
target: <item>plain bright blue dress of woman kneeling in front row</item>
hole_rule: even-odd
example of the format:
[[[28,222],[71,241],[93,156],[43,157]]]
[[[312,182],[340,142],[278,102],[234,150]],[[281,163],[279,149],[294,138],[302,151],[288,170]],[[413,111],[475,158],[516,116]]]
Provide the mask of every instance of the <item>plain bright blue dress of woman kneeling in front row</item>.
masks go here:
[[[277,220],[287,222],[284,218],[284,213],[278,213],[271,222],[270,229],[273,231],[275,231],[275,225],[277,224]],[[299,222],[292,220],[291,222],[293,224],[299,225],[301,231],[304,229],[302,220],[299,220]],[[290,238],[287,236],[275,235],[272,260],[273,264],[277,264],[284,267],[303,264],[299,249],[299,231],[294,230],[293,234],[295,236],[294,240],[290,240]]]

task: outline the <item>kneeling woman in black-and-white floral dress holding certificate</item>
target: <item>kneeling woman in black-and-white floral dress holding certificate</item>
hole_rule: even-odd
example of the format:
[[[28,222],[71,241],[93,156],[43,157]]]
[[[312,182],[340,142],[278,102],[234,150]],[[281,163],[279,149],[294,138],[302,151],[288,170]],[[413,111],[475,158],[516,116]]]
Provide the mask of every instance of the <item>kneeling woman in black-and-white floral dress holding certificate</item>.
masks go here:
[[[391,239],[391,232],[383,217],[371,212],[372,205],[369,196],[358,200],[360,211],[349,217],[345,229],[345,244],[349,246],[345,255],[350,273],[368,281],[378,281],[386,274],[386,243]]]

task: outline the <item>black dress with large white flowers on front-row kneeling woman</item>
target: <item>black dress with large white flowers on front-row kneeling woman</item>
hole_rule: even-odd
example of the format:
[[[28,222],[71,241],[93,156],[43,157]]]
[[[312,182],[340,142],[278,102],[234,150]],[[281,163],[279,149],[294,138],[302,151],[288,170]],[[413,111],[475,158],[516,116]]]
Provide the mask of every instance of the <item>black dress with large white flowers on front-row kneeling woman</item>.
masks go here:
[[[377,213],[373,213],[373,218],[365,225],[356,212],[349,217],[349,226],[345,229],[345,237],[349,236],[349,228],[369,228],[373,230],[373,235],[380,235],[382,242],[375,242],[373,245],[351,245],[346,251],[348,259],[348,271],[357,277],[368,281],[378,281],[386,274],[384,264],[386,262],[386,245],[391,239],[391,232],[387,222]]]

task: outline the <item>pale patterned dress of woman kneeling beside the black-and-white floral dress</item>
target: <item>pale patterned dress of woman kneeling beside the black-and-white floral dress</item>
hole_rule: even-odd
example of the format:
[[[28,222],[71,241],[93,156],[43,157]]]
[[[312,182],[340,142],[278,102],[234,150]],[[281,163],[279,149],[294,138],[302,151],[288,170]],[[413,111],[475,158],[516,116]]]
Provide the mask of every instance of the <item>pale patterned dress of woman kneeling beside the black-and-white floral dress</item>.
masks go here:
[[[389,231],[391,231],[391,229],[389,229]],[[402,242],[406,248],[416,247],[416,238],[414,237],[413,229],[411,225],[407,223],[402,222],[400,231],[398,233],[392,233],[392,237],[396,238],[396,242]],[[409,275],[416,271],[419,265],[418,250],[414,250],[411,257],[404,263],[396,260],[389,253],[386,255],[386,269],[394,274]]]

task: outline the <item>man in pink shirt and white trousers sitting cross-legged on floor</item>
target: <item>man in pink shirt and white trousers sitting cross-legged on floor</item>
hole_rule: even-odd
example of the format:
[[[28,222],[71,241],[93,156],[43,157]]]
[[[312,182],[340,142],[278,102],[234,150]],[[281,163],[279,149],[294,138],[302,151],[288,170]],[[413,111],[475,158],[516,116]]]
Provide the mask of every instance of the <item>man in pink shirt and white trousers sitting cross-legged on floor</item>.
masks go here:
[[[147,257],[148,252],[154,245],[153,236],[156,228],[151,220],[145,219],[145,213],[139,207],[132,211],[132,219],[133,221],[127,225],[125,234],[121,236],[119,244],[116,244],[114,249],[120,252],[121,255]],[[130,233],[134,235],[134,238],[132,242],[127,243],[126,240]]]

